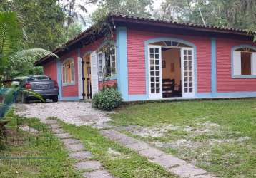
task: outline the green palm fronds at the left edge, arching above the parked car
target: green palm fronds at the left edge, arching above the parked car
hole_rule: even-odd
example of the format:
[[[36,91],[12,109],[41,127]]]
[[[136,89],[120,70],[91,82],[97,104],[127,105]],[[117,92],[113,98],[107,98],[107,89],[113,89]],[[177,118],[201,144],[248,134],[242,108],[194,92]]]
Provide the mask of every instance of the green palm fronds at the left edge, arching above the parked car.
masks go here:
[[[0,89],[2,80],[10,78],[11,68],[26,63],[32,58],[56,56],[41,48],[21,50],[22,26],[14,12],[0,12]]]

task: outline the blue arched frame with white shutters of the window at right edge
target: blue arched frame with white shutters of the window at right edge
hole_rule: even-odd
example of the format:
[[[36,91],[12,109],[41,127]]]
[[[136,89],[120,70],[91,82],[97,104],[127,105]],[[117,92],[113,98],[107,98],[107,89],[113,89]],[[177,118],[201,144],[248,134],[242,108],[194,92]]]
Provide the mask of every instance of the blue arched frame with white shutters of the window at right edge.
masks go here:
[[[256,78],[256,52],[252,52],[251,56],[251,75],[242,75],[242,51],[237,51],[240,48],[250,48],[253,51],[256,51],[256,46],[235,46],[232,48],[231,52],[231,70],[232,70],[232,78]]]

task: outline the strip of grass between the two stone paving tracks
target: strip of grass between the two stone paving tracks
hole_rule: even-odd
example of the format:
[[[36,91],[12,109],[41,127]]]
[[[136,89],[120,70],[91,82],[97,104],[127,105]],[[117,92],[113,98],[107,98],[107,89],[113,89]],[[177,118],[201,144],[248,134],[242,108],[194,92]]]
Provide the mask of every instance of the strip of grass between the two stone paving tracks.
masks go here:
[[[75,127],[61,122],[64,130],[84,143],[93,159],[101,162],[115,177],[174,177],[157,164],[149,162],[136,152],[108,140],[88,126]],[[109,149],[119,154],[112,154]]]

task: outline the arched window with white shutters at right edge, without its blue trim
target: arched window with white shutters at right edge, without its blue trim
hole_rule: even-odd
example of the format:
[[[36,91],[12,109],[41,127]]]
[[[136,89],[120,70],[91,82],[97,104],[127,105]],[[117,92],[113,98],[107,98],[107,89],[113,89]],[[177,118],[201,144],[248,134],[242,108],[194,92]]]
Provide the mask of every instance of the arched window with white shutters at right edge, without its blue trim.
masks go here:
[[[238,48],[233,53],[234,75],[256,75],[256,51],[252,48]]]

